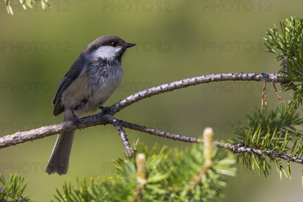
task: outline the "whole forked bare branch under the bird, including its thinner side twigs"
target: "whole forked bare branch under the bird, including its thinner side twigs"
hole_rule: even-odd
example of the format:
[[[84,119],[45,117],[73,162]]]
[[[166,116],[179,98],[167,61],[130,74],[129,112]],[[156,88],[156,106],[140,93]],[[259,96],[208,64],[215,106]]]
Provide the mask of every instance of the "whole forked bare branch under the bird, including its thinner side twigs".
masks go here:
[[[156,87],[152,87],[137,93],[134,93],[125,99],[120,100],[120,102],[116,103],[112,107],[108,109],[106,113],[99,113],[93,116],[85,117],[80,119],[80,123],[78,126],[74,125],[72,122],[62,122],[60,124],[54,124],[51,126],[43,126],[41,128],[33,129],[30,131],[24,132],[17,132],[12,135],[7,135],[0,138],[0,148],[12,146],[15,144],[23,143],[29,140],[35,140],[39,138],[43,138],[46,136],[63,133],[71,130],[87,128],[90,126],[96,125],[106,125],[106,124],[113,124],[121,138],[123,140],[124,146],[126,150],[129,151],[130,145],[128,143],[126,134],[122,128],[122,126],[131,128],[134,130],[146,132],[153,135],[158,135],[160,137],[165,137],[169,139],[184,141],[184,142],[191,142],[191,143],[198,143],[203,142],[203,140],[188,137],[184,135],[177,135],[172,134],[152,128],[147,128],[145,126],[140,126],[136,124],[131,124],[125,121],[118,120],[114,118],[112,115],[116,114],[120,110],[124,109],[125,107],[138,102],[141,99],[146,97],[150,97],[156,94],[164,93],[167,91],[172,91],[175,89],[180,89],[184,87],[188,87],[191,85],[201,84],[201,83],[209,83],[209,82],[217,82],[217,81],[263,81],[263,82],[274,82],[274,83],[282,83],[286,82],[286,79],[281,78],[282,74],[255,74],[255,73],[226,73],[226,74],[212,74],[212,75],[205,75],[205,76],[198,76],[193,78],[188,78],[180,81],[171,82],[168,84],[159,85]],[[119,124],[118,124],[119,123]],[[250,153],[250,154],[258,154],[258,155],[265,155],[272,158],[281,158],[287,161],[292,161],[296,163],[303,164],[303,160],[291,157],[286,154],[279,154],[276,152],[269,152],[269,151],[261,151],[260,149],[244,147],[243,143],[239,143],[236,145],[231,145],[223,142],[214,142],[216,146],[226,148],[234,153]]]

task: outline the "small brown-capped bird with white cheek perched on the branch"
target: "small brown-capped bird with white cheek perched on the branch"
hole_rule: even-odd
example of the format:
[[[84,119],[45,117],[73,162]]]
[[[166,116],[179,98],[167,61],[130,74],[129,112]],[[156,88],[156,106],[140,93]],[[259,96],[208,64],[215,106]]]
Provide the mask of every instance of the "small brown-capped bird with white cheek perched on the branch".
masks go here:
[[[78,118],[103,109],[121,83],[122,56],[134,45],[118,36],[102,36],[88,44],[59,84],[53,99],[54,116],[64,112],[63,121],[78,125]],[[67,173],[74,133],[69,131],[58,135],[46,167],[49,175]]]

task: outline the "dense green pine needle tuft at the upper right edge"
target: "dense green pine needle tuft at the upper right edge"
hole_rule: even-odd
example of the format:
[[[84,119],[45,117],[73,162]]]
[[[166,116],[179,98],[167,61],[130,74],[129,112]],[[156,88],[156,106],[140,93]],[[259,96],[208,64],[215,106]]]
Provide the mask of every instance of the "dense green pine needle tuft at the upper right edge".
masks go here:
[[[280,32],[276,25],[266,32],[265,51],[274,53],[281,60],[280,73],[288,82],[281,83],[282,91],[293,90],[291,104],[295,108],[302,105],[303,98],[303,19],[290,17],[280,22]]]

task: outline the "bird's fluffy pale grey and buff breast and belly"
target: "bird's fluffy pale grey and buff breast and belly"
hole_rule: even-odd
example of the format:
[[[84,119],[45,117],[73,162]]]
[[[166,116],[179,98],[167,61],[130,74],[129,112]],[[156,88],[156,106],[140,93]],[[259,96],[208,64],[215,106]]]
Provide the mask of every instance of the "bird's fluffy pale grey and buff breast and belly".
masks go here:
[[[89,116],[103,106],[120,85],[121,63],[91,64],[62,94],[65,109],[73,109],[78,117]]]

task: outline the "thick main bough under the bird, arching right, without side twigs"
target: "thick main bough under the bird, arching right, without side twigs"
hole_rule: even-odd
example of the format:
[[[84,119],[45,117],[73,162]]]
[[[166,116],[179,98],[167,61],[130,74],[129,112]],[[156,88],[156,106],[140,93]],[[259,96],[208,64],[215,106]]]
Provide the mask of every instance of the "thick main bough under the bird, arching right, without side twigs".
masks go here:
[[[226,73],[226,74],[211,74],[204,76],[197,76],[193,78],[183,79],[180,81],[171,82],[168,84],[159,85],[156,87],[148,88],[140,92],[134,93],[125,99],[120,100],[112,107],[108,108],[106,113],[99,113],[93,116],[80,119],[78,126],[72,122],[62,122],[60,124],[54,124],[51,126],[43,126],[37,129],[17,132],[12,135],[6,135],[0,138],[0,149],[16,144],[20,144],[26,141],[32,141],[40,139],[49,135],[63,133],[67,131],[87,128],[96,125],[106,125],[111,123],[109,117],[105,117],[106,114],[114,115],[120,110],[130,106],[133,103],[138,102],[141,99],[150,97],[156,94],[161,94],[167,91],[175,89],[185,88],[191,85],[197,85],[201,83],[217,82],[217,81],[263,81],[263,82],[285,82],[285,78],[280,78],[281,74],[257,74],[257,73]]]

